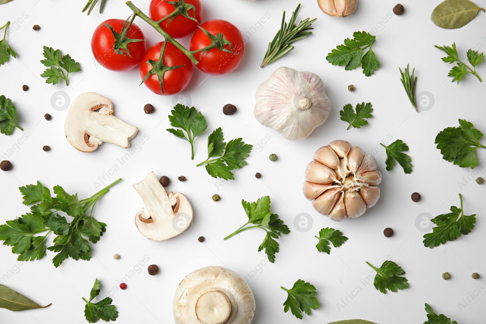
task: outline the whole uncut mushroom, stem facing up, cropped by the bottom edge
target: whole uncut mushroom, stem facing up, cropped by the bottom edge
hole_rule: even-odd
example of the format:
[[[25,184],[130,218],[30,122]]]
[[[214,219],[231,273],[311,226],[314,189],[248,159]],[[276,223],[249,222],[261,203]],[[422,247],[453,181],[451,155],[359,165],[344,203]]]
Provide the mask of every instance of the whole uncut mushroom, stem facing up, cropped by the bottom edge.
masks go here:
[[[209,266],[188,274],[174,294],[176,324],[250,324],[255,297],[232,270]]]

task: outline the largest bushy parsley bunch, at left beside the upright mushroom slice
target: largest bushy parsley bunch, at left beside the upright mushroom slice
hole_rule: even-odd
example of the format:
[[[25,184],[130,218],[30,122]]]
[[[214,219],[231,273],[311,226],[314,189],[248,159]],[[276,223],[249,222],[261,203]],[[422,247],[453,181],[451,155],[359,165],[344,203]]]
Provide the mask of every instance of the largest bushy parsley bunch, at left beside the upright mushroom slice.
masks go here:
[[[47,248],[57,254],[52,263],[57,268],[68,257],[74,260],[89,260],[91,247],[89,241],[96,243],[106,231],[106,224],[93,218],[93,209],[98,200],[108,192],[109,188],[120,182],[118,179],[106,188],[101,189],[87,199],[78,199],[78,194],[70,195],[61,186],[51,190],[37,181],[36,185],[20,187],[24,205],[33,205],[30,213],[26,213],[13,221],[7,221],[0,226],[0,240],[3,244],[12,246],[12,253],[18,254],[19,261],[41,259],[46,255],[47,236],[52,232],[56,235],[54,245]],[[64,212],[72,217],[68,222]],[[45,233],[43,236],[35,234]],[[85,239],[87,238],[87,239]]]

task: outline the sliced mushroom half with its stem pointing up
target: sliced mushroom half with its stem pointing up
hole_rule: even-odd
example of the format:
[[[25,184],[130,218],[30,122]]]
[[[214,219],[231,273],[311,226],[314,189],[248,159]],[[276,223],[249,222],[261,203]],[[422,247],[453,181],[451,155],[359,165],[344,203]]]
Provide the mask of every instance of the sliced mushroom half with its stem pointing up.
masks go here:
[[[192,206],[182,193],[167,194],[154,172],[133,185],[145,207],[135,216],[135,224],[147,239],[162,241],[188,229],[192,222]]]

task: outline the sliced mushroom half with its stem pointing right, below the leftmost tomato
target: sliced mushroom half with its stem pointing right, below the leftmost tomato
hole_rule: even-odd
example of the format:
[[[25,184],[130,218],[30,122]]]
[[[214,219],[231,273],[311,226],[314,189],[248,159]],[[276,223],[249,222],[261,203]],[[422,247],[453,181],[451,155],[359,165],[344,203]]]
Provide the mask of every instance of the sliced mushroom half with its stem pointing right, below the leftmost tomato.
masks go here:
[[[139,129],[113,115],[113,103],[108,98],[94,92],[79,95],[66,116],[66,139],[81,152],[96,151],[103,142],[130,147]]]

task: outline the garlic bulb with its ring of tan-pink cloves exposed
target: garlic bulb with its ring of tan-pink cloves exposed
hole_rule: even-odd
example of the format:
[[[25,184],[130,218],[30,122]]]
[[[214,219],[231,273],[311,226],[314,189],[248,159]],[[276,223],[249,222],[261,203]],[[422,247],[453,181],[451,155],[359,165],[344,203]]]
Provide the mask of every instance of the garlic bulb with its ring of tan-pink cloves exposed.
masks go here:
[[[305,170],[304,196],[333,221],[360,217],[380,199],[382,174],[373,155],[335,140],[314,153]]]

